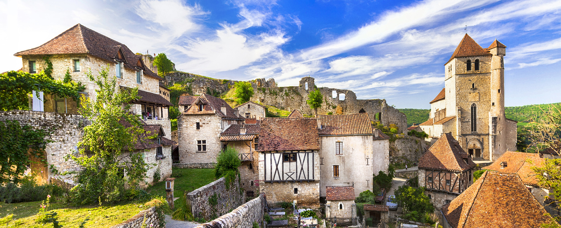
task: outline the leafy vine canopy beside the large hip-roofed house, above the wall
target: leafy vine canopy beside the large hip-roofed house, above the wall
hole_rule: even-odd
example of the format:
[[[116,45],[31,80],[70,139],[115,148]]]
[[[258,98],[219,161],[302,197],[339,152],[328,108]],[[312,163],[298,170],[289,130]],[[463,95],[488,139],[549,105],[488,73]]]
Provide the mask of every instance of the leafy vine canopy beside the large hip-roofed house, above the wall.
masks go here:
[[[53,80],[52,77],[39,74],[29,74],[21,71],[8,71],[0,74],[0,110],[29,110],[29,95],[39,97],[39,91],[46,94],[56,94],[59,97],[70,97],[78,101],[80,91],[85,87],[81,83]],[[31,94],[33,90],[35,94]]]

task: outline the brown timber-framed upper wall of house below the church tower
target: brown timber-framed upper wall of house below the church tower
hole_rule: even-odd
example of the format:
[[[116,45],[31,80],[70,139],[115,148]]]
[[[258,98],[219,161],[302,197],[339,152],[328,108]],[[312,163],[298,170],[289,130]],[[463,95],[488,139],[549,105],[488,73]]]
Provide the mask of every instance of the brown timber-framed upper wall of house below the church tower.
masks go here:
[[[473,168],[463,172],[451,170],[423,170],[425,170],[425,188],[427,190],[461,194],[473,184]],[[429,181],[429,177],[432,177],[433,181]],[[446,184],[446,180],[450,180],[449,185]],[[438,181],[438,183],[435,183],[436,181]]]

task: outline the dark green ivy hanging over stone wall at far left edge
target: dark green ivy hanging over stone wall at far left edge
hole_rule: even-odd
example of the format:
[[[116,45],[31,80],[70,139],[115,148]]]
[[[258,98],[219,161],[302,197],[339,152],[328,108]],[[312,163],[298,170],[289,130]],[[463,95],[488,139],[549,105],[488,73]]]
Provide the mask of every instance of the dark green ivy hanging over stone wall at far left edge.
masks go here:
[[[40,158],[47,165],[43,152],[48,143],[47,131],[8,120],[0,122],[0,132],[0,183],[18,183],[31,164],[31,157]]]

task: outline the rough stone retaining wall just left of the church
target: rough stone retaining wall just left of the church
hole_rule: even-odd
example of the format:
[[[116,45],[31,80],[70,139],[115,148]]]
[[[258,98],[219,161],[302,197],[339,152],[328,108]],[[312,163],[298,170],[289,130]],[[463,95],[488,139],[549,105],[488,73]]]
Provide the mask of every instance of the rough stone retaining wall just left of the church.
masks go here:
[[[409,135],[394,135],[396,140],[389,143],[389,156],[392,163],[419,162],[422,154],[430,147],[430,142]]]

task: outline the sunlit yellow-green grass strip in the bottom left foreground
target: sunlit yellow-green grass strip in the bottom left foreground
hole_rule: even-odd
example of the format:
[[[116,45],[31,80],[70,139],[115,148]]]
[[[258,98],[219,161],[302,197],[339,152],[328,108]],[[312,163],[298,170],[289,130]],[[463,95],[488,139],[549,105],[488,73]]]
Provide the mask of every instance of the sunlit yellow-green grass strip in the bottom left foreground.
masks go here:
[[[0,216],[5,217],[13,213],[12,220],[8,224],[0,224],[2,227],[52,227],[52,224],[43,226],[36,224],[35,219],[38,217],[38,202],[27,203],[0,203]],[[142,203],[117,204],[112,206],[88,206],[88,207],[68,207],[64,203],[50,204],[49,212],[57,212],[57,220],[59,225],[65,228],[79,227],[80,223],[86,218],[85,227],[111,227],[124,222],[142,211]]]

